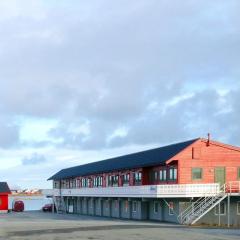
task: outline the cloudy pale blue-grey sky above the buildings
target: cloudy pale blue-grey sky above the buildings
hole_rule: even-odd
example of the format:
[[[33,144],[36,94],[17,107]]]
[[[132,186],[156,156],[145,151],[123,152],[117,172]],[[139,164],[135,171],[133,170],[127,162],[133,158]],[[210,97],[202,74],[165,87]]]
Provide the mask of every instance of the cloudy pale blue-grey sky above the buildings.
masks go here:
[[[0,181],[211,137],[240,146],[239,0],[0,0]]]

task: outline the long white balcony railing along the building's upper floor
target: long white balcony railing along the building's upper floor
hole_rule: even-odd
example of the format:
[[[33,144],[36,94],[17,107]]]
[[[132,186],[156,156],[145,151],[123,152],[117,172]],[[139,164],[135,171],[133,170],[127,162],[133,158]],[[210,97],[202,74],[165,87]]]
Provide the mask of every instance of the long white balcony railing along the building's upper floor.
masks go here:
[[[219,184],[171,184],[127,187],[54,189],[54,196],[171,198],[214,196]]]

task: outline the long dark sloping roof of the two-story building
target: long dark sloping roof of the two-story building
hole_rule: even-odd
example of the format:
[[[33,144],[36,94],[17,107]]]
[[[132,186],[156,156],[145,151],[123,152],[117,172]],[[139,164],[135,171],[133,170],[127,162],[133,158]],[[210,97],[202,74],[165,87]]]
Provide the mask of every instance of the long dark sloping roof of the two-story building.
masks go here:
[[[180,151],[194,143],[198,139],[176,143],[165,147],[155,148],[143,152],[115,157],[103,161],[88,163],[76,167],[62,169],[48,180],[59,180],[77,176],[87,176],[97,173],[106,173],[116,170],[151,167],[164,164]]]

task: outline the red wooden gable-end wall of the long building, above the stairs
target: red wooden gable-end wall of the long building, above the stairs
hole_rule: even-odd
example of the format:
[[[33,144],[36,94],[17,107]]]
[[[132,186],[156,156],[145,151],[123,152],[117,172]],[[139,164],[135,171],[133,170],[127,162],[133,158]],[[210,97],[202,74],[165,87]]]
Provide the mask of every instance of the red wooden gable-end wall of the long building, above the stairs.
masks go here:
[[[239,181],[240,151],[199,140],[173,159],[178,160],[178,183],[214,183],[215,167],[225,167],[226,182]],[[192,180],[192,168],[203,168],[201,180]]]

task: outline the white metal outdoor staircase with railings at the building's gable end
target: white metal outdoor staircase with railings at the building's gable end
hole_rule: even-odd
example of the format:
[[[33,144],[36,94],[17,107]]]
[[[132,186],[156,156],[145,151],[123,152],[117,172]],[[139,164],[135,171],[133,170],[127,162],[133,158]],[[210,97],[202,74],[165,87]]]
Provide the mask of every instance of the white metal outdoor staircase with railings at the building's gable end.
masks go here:
[[[230,182],[220,187],[219,193],[213,196],[199,198],[193,202],[191,206],[186,208],[179,216],[178,221],[181,224],[194,224],[201,219],[205,214],[220,204],[228,194],[240,193],[240,182]]]

